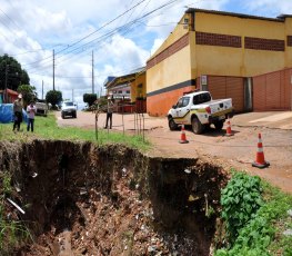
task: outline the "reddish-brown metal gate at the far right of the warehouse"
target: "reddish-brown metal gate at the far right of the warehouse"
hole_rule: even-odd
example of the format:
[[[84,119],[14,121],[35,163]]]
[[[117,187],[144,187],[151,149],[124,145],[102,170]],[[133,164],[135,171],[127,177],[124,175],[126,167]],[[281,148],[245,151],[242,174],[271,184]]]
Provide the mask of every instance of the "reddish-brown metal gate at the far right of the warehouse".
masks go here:
[[[253,78],[254,111],[291,109],[291,70],[281,70]]]

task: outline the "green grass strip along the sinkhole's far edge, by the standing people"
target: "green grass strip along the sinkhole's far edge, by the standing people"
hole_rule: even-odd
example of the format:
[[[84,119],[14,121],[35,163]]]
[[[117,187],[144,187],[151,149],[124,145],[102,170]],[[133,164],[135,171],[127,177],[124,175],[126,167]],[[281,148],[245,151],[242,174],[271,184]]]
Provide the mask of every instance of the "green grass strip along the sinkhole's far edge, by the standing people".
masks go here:
[[[48,117],[36,117],[34,132],[26,131],[26,124],[22,122],[22,132],[14,134],[12,124],[0,125],[0,140],[9,141],[29,141],[31,139],[58,139],[72,141],[92,141],[94,144],[123,144],[132,148],[145,150],[150,144],[143,141],[141,136],[129,136],[122,132],[114,132],[104,129],[99,129],[98,140],[94,129],[81,129],[75,127],[58,127],[54,114],[49,114]]]

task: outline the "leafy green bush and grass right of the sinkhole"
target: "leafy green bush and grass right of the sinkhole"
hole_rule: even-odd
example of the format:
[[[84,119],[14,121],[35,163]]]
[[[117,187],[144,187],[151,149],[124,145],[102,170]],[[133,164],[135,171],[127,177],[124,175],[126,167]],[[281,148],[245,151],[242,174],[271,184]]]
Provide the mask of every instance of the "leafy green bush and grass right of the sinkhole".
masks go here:
[[[222,190],[222,218],[225,220],[226,248],[217,256],[292,255],[292,196],[244,173],[234,173]],[[234,226],[232,226],[234,225]]]

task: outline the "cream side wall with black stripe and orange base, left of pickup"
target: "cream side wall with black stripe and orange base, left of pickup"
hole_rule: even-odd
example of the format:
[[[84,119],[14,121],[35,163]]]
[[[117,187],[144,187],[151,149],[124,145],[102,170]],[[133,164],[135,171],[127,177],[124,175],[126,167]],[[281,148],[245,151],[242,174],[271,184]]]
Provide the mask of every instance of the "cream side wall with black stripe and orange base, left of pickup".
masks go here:
[[[194,88],[191,79],[189,35],[184,35],[182,40],[172,46],[174,47],[164,49],[152,59],[154,65],[151,60],[148,62],[147,111],[152,116],[165,115],[182,91]]]

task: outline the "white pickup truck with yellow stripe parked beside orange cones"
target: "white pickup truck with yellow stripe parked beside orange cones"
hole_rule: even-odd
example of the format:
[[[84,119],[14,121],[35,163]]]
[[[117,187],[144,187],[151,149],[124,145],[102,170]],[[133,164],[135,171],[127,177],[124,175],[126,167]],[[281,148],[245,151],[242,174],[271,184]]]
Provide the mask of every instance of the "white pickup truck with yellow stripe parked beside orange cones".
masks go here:
[[[212,100],[209,91],[191,92],[182,96],[168,112],[170,130],[179,125],[190,125],[197,135],[214,125],[221,130],[228,117],[233,117],[232,99]]]

